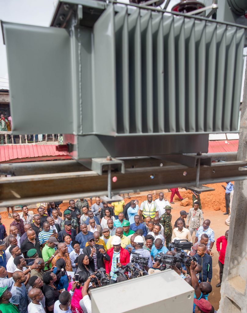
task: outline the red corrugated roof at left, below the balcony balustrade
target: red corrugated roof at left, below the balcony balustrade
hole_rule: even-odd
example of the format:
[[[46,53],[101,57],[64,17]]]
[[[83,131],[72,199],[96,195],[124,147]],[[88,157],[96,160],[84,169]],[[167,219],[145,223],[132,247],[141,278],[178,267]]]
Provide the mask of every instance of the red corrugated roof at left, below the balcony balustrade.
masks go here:
[[[57,151],[56,145],[16,144],[0,146],[0,162],[28,162],[71,159],[67,153]]]

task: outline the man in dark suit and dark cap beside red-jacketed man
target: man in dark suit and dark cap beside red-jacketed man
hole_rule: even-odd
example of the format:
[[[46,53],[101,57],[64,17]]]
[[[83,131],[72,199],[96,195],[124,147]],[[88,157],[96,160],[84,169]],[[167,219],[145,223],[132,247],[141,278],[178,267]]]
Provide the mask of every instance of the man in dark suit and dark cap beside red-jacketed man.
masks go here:
[[[105,268],[104,259],[110,261],[109,255],[101,244],[96,244],[93,236],[88,236],[88,247],[83,248],[83,253],[87,254],[89,266],[93,271],[101,267]]]

